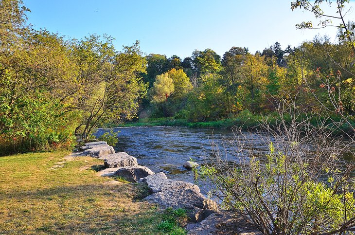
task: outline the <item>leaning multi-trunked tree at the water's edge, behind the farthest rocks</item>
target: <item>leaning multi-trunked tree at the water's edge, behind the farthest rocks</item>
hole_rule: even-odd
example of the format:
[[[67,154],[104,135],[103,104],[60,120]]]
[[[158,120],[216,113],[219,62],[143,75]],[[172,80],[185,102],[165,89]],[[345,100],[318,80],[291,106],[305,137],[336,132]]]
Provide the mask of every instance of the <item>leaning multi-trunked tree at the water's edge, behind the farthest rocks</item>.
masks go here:
[[[86,140],[89,133],[106,121],[118,122],[134,117],[137,99],[146,86],[137,75],[145,72],[145,59],[137,41],[131,47],[116,52],[112,38],[102,41],[98,36],[82,40],[76,49],[79,78],[84,84],[86,99],[79,101],[83,121],[76,128]]]

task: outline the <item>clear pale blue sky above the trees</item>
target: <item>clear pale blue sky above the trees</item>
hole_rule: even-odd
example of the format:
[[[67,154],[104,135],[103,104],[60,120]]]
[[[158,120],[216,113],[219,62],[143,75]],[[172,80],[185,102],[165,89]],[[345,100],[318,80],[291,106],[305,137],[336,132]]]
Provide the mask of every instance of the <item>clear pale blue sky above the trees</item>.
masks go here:
[[[233,46],[254,53],[279,42],[298,46],[314,36],[336,40],[337,29],[299,30],[309,12],[290,9],[292,0],[24,0],[29,23],[70,38],[107,34],[117,50],[140,40],[145,54],[191,56],[213,49],[221,56]],[[354,21],[355,1],[346,18]],[[336,21],[334,23],[337,23]]]

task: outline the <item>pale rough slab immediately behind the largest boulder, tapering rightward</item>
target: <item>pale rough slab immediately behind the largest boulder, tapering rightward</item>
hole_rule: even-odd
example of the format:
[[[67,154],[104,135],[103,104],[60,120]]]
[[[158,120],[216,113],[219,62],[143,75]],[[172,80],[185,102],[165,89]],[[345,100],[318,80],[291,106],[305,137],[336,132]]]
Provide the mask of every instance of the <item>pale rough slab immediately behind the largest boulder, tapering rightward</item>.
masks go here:
[[[148,187],[153,193],[158,193],[166,190],[178,190],[181,188],[195,189],[197,192],[200,192],[200,188],[193,183],[168,180],[164,172],[147,176],[143,179],[143,181],[148,185]]]

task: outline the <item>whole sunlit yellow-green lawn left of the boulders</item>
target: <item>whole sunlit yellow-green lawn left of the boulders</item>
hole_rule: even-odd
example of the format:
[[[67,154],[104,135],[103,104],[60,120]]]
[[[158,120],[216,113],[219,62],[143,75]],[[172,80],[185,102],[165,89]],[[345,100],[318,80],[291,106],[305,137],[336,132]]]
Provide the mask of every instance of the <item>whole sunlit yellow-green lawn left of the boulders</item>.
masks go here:
[[[185,234],[159,226],[166,212],[139,201],[146,189],[96,174],[100,160],[68,152],[0,158],[0,234]],[[63,165],[51,169],[54,165]],[[56,164],[57,163],[57,164]],[[145,191],[145,192],[144,192]],[[180,233],[181,232],[181,233]]]

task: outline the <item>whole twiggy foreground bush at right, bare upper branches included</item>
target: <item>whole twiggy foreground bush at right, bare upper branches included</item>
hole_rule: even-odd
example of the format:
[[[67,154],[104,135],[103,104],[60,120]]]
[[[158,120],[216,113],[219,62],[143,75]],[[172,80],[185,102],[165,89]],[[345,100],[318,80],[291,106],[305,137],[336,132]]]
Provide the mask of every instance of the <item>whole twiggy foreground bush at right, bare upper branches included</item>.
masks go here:
[[[272,126],[260,122],[258,132],[236,129],[233,140],[224,143],[233,159],[212,143],[213,154],[199,172],[213,182],[211,194],[226,209],[250,218],[263,234],[353,231],[355,182],[350,174],[355,166],[342,156],[354,141],[332,138],[324,120],[292,104],[276,118]],[[268,151],[258,150],[260,145],[268,145]]]

